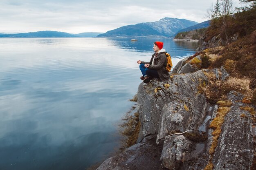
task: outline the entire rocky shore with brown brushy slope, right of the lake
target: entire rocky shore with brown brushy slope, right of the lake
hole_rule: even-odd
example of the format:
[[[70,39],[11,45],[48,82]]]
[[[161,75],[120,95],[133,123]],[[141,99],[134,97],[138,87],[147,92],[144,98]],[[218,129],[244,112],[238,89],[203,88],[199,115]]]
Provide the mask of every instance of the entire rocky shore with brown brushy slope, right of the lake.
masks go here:
[[[211,22],[168,83],[139,85],[137,142],[97,170],[256,170],[255,10]]]

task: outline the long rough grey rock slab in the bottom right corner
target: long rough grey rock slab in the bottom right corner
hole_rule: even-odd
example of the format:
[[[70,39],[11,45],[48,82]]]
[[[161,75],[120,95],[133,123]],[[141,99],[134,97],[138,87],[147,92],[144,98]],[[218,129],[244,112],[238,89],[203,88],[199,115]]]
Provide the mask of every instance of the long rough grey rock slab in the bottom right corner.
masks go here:
[[[249,170],[254,155],[252,115],[240,108],[247,106],[238,102],[243,99],[243,95],[232,92],[229,99],[234,105],[227,113],[221,128],[220,139],[213,157],[213,170]]]

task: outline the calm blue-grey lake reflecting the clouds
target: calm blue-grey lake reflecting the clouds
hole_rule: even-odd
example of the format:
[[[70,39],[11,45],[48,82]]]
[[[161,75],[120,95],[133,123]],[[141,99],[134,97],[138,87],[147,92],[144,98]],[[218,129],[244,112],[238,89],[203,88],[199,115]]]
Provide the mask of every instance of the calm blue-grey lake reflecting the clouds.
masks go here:
[[[164,42],[175,66],[197,42],[0,38],[0,170],[85,170],[119,146],[137,60]]]

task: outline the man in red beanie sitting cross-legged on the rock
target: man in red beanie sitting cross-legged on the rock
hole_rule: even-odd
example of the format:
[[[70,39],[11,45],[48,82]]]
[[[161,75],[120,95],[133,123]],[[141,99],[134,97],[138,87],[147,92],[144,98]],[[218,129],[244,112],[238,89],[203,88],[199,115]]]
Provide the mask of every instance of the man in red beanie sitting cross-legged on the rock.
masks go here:
[[[161,79],[162,82],[167,83],[170,80],[170,75],[166,71],[167,59],[166,51],[163,49],[163,42],[154,42],[153,49],[155,53],[152,55],[150,62],[137,61],[139,69],[142,73],[140,77],[144,83],[150,82],[153,77]]]

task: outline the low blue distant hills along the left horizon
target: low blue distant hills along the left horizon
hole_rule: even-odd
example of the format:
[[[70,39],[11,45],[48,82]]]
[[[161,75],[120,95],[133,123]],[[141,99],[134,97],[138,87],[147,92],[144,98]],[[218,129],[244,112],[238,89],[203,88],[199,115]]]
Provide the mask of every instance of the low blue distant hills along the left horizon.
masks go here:
[[[38,31],[30,33],[16,33],[16,34],[3,34],[0,33],[0,38],[9,37],[9,38],[72,38],[72,37],[96,37],[101,33],[79,33],[79,34],[70,34],[65,32],[58,31]]]

